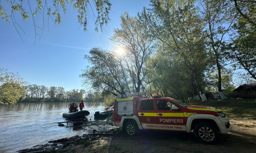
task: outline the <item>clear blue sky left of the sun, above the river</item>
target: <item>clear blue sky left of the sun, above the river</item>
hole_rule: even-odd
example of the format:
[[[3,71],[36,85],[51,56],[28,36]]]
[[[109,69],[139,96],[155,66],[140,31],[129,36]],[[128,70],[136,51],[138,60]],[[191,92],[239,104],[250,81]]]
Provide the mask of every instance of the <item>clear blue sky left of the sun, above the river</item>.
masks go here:
[[[51,19],[49,23],[45,21],[44,32],[36,39],[31,17],[25,21],[15,16],[24,30],[19,30],[23,41],[12,23],[0,19],[0,67],[18,73],[29,84],[63,87],[66,91],[88,90],[82,86],[82,79],[79,78],[81,70],[88,65],[83,59],[84,55],[93,47],[110,50],[112,43],[109,38],[114,28],[120,28],[121,14],[128,12],[130,16],[136,16],[144,6],[148,7],[150,1],[114,0],[111,3],[111,20],[104,25],[103,32],[94,31],[91,15],[88,17],[88,30],[84,32],[72,7],[68,8],[66,14],[62,13],[60,24],[54,24]],[[5,5],[5,1],[1,4]],[[35,21],[42,27],[41,15],[36,16]]]

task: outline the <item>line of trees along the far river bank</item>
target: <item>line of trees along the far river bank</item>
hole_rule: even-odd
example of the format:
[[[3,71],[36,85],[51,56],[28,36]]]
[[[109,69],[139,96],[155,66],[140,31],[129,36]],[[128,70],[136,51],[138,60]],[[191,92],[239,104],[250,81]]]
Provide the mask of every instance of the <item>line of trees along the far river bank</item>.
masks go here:
[[[0,104],[17,102],[78,102],[102,101],[97,92],[84,89],[65,91],[63,87],[46,87],[44,85],[28,85],[18,74],[0,68]]]

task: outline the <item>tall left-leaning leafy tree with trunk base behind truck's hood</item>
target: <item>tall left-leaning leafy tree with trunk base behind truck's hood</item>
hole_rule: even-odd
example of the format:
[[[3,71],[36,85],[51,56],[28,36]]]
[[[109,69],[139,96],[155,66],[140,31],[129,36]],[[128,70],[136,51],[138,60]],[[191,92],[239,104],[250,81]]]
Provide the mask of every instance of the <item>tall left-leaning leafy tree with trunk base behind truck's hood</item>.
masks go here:
[[[141,13],[142,20],[156,37],[169,58],[183,59],[191,71],[194,95],[206,100],[202,80],[206,64],[204,24],[195,1],[151,1],[151,9]]]

